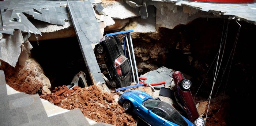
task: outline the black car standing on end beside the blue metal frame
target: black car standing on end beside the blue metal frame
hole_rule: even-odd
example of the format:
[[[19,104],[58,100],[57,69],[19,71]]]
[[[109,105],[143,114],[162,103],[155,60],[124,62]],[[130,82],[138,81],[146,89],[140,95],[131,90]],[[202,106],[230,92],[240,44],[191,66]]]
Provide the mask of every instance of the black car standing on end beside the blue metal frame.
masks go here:
[[[115,88],[131,85],[131,64],[124,56],[123,47],[117,35],[104,36],[100,39],[97,51],[105,53],[103,59],[110,76],[110,85]]]

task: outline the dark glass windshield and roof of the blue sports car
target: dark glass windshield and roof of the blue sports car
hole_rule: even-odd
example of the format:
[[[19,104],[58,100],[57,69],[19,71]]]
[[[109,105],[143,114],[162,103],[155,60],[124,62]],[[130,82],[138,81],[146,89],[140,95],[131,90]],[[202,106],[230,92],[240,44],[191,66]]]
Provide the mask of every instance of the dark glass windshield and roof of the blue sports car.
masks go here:
[[[176,123],[180,126],[188,126],[188,123],[182,118],[180,113],[169,103],[155,99],[148,99],[143,102],[143,106],[170,122]]]

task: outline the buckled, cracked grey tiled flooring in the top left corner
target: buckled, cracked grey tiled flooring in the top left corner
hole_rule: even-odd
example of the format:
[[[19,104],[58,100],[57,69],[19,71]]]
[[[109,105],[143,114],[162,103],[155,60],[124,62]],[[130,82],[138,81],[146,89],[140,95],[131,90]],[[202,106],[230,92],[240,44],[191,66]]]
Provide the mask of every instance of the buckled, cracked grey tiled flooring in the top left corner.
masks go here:
[[[7,30],[0,30],[0,33],[11,34],[10,30],[19,29],[31,34],[41,32],[27,19],[23,14],[26,13],[34,19],[45,21],[52,24],[64,25],[68,20],[67,7],[59,4],[59,1],[42,1],[42,0],[8,0],[0,1],[0,7],[5,8],[2,13],[3,24]]]

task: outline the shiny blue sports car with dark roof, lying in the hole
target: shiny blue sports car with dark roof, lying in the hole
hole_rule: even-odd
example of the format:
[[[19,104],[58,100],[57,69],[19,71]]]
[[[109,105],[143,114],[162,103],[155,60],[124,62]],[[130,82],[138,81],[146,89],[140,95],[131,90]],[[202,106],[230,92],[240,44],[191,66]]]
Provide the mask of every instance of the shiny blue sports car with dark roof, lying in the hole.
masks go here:
[[[194,126],[173,106],[154,99],[144,91],[125,91],[118,101],[126,112],[133,112],[150,126]]]

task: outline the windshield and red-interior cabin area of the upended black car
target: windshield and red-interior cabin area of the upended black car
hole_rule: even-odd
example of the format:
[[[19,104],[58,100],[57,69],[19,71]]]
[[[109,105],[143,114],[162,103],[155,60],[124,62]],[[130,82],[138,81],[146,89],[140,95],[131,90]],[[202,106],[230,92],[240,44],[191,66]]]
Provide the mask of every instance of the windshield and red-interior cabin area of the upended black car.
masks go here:
[[[124,55],[120,55],[119,57],[117,57],[117,59],[115,60],[115,68],[120,79],[124,80],[131,70],[128,58],[126,58]]]

